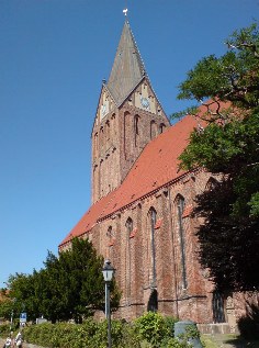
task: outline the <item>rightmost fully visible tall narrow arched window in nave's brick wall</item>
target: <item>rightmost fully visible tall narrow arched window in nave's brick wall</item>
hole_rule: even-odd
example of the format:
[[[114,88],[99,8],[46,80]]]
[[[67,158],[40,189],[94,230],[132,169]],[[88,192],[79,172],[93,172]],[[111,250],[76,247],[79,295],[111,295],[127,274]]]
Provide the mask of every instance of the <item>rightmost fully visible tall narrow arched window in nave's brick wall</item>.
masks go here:
[[[185,238],[184,238],[184,228],[183,228],[183,221],[182,221],[182,214],[184,210],[184,198],[182,195],[178,195],[176,200],[176,206],[177,206],[178,229],[179,229],[179,237],[180,237],[182,287],[183,289],[187,289],[188,280],[187,280]]]

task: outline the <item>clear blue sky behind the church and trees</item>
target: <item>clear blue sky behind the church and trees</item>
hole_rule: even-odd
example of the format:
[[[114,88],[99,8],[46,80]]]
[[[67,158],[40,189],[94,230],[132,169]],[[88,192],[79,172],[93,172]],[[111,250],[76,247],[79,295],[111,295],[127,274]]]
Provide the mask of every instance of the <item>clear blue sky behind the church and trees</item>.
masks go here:
[[[128,20],[168,115],[259,0],[0,0],[0,288],[43,267],[90,205],[91,128]],[[190,103],[189,103],[190,104]]]

